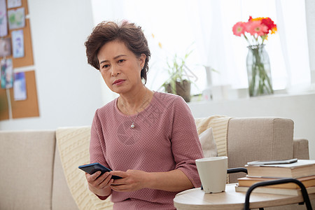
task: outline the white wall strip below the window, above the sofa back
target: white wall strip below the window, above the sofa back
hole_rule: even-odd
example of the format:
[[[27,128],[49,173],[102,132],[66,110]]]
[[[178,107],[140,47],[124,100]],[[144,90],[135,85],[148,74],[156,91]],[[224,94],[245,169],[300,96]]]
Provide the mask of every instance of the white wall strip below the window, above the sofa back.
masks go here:
[[[309,158],[315,160],[315,93],[272,95],[230,101],[192,102],[195,118],[213,115],[231,117],[282,117],[294,121],[294,137],[309,140]]]

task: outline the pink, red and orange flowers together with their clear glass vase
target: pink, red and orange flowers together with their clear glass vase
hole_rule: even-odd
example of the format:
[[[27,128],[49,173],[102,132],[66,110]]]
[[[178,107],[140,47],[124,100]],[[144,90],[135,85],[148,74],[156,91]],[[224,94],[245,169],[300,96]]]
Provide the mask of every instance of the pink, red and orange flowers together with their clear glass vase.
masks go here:
[[[237,22],[232,27],[235,36],[244,36],[248,42],[246,66],[248,73],[249,95],[272,94],[272,79],[269,56],[264,41],[268,34],[276,32],[276,25],[270,18],[252,18],[248,22]]]

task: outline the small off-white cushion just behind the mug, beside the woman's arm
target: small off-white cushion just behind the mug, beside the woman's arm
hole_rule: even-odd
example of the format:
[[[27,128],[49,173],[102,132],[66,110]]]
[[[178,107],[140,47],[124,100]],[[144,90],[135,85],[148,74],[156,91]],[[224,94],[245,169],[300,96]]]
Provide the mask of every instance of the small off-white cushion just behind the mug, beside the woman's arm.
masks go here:
[[[209,127],[207,130],[202,132],[202,134],[199,135],[199,139],[202,145],[204,158],[218,156],[218,151],[216,150],[216,141],[214,141],[214,134],[212,133],[212,127]]]

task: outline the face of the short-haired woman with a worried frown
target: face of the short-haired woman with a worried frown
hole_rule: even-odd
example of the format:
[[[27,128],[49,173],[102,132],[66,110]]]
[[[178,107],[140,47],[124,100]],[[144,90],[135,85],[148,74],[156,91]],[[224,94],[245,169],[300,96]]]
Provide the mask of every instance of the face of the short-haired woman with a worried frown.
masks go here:
[[[144,66],[146,55],[136,57],[125,43],[110,41],[102,46],[97,54],[99,71],[106,85],[113,92],[125,93],[136,90],[137,85],[142,85],[141,69]],[[140,86],[139,86],[140,87]]]

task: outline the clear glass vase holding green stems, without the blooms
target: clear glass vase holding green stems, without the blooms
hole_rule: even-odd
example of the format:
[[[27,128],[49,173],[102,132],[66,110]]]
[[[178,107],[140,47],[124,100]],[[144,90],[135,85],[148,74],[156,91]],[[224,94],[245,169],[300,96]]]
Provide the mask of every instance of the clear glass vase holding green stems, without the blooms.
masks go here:
[[[273,94],[269,56],[265,45],[249,45],[246,57],[250,97]]]

